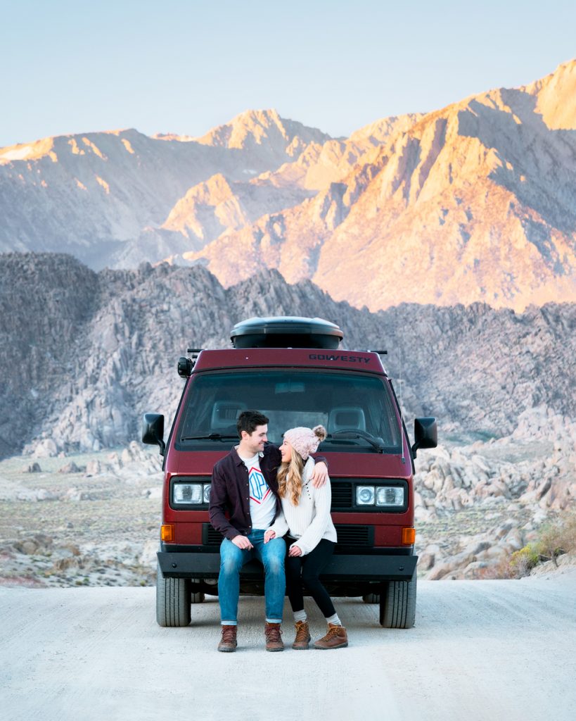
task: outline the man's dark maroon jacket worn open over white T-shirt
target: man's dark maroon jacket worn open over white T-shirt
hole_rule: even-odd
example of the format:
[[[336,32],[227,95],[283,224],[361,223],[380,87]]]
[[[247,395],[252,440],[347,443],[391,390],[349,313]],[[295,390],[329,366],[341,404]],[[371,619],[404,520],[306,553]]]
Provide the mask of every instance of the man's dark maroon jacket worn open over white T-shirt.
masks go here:
[[[278,495],[276,473],[282,462],[280,450],[273,443],[264,446],[264,455],[260,457],[260,470],[276,497],[276,514],[281,508]],[[316,461],[324,461],[317,456]],[[226,513],[228,512],[228,518]],[[252,531],[250,518],[250,486],[248,469],[238,451],[233,448],[228,456],[220,459],[212,470],[210,487],[210,523],[222,536],[230,541],[238,534],[248,536]]]

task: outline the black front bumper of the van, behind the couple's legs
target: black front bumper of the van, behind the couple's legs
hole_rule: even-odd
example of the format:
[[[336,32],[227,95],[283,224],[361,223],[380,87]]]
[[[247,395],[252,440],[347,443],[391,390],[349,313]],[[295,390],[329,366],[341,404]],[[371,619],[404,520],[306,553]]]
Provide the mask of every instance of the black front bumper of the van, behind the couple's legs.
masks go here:
[[[166,547],[167,544],[164,544]],[[320,575],[325,581],[408,581],[415,575],[418,556],[413,554],[335,554]],[[161,550],[158,565],[164,578],[217,579],[220,572],[220,554],[202,549],[179,547],[178,552]],[[264,570],[257,560],[242,567],[240,578],[258,581],[264,578]]]

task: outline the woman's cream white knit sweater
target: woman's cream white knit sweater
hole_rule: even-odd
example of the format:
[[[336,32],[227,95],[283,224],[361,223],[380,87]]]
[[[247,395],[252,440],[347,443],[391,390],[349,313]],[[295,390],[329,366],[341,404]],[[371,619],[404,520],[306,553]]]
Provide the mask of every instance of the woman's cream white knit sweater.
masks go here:
[[[282,510],[270,526],[277,537],[288,533],[297,539],[292,546],[299,547],[303,556],[313,551],[321,539],[334,543],[337,540],[336,528],[330,516],[330,479],[326,479],[323,487],[315,488],[311,480],[313,472],[314,459],[309,456],[302,472],[302,495],[298,505],[292,505],[289,497],[281,498]]]

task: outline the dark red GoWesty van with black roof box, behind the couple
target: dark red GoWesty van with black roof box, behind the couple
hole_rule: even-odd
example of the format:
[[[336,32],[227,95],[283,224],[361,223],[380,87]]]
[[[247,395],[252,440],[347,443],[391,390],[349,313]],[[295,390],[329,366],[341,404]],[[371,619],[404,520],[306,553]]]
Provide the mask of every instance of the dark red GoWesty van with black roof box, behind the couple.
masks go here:
[[[436,419],[415,419],[410,446],[384,352],[341,350],[333,323],[253,318],[230,337],[233,348],[189,349],[179,359],[186,383],[166,443],[163,415],[144,415],[143,442],[164,456],[158,624],[187,626],[190,604],[217,594],[222,536],[208,519],[212,466],[238,443],[240,412],[255,409],[269,417],[274,443],[294,426],[321,423],[328,432],[318,453],[328,460],[338,532],[322,575],[330,595],[362,596],[379,603],[382,626],[413,627],[413,459],[418,448],[436,446]],[[258,561],[243,567],[240,593],[264,593]]]

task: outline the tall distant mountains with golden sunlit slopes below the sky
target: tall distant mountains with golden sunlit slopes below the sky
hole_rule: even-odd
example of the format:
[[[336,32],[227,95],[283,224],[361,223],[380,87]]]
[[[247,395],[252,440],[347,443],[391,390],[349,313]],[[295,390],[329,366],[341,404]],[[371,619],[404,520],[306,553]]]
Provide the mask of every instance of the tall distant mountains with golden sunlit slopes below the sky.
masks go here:
[[[576,301],[576,61],[349,138],[251,110],[0,149],[1,252],[260,270],[372,311]]]

